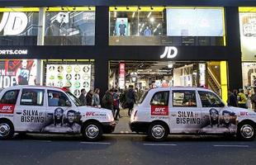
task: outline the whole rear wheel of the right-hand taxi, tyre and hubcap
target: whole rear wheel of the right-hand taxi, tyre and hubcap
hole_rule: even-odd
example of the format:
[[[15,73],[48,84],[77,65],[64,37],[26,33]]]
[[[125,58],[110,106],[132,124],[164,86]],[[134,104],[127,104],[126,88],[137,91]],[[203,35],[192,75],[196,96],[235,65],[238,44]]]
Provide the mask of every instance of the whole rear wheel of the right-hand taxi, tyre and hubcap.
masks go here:
[[[149,125],[148,135],[153,141],[164,141],[168,136],[168,128],[162,122],[153,122]]]

